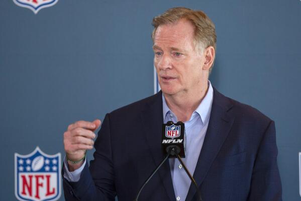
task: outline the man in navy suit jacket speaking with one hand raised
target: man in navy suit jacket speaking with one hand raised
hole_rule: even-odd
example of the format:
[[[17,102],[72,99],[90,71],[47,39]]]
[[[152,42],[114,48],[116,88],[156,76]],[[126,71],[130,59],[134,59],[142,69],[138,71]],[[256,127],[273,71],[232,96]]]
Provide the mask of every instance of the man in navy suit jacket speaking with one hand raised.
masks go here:
[[[203,200],[281,200],[274,122],[220,94],[208,80],[215,26],[201,11],[173,8],[153,19],[154,64],[162,92],[64,133],[66,200],[133,200],[164,158],[162,123],[182,121],[186,163]],[[85,152],[94,144],[94,160]],[[169,159],[139,200],[197,200],[177,159]]]

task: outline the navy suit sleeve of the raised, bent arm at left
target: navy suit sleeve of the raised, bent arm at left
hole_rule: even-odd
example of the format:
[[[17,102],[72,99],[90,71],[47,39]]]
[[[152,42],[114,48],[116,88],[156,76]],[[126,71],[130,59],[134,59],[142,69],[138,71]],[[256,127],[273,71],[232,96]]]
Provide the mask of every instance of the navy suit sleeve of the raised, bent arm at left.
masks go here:
[[[115,200],[109,114],[106,115],[102,128],[98,132],[94,148],[94,160],[90,162],[90,167],[86,163],[78,182],[68,182],[63,177],[65,200]]]

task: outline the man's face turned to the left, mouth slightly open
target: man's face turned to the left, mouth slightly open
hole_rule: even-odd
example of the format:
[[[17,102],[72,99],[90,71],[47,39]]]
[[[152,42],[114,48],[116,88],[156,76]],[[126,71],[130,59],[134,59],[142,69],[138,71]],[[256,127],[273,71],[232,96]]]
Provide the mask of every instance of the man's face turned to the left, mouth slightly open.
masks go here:
[[[160,25],[156,30],[154,64],[164,94],[197,91],[204,87],[204,79],[208,79],[203,71],[205,56],[195,50],[193,35],[194,27],[186,20]]]

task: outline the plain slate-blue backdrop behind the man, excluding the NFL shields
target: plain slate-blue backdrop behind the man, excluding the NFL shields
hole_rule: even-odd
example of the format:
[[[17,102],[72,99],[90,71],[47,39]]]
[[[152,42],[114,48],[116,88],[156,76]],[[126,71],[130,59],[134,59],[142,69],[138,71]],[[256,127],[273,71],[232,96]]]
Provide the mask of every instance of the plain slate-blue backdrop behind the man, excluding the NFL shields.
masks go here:
[[[1,200],[17,199],[15,153],[39,146],[64,156],[68,124],[103,119],[153,94],[151,21],[179,6],[203,10],[216,24],[210,80],[275,120],[283,199],[301,200],[299,0],[59,0],[36,15],[0,1]]]

